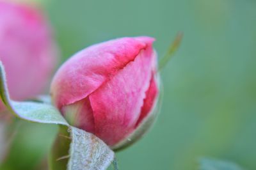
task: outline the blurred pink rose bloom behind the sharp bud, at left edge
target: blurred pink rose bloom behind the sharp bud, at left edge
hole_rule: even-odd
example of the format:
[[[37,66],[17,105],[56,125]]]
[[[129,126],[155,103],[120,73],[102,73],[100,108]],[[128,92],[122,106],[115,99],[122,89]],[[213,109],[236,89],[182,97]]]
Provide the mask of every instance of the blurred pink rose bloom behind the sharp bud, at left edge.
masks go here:
[[[57,54],[42,12],[31,6],[0,2],[0,60],[12,99],[25,100],[43,93]]]

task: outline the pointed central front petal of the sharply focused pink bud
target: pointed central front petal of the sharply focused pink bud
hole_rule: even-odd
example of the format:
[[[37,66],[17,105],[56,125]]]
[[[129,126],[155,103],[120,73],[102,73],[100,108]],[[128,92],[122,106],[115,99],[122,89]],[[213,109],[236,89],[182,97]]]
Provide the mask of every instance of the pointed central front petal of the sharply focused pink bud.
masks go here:
[[[124,139],[140,117],[152,72],[150,47],[90,95],[95,134],[109,146]]]

